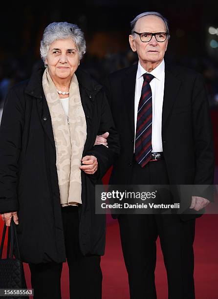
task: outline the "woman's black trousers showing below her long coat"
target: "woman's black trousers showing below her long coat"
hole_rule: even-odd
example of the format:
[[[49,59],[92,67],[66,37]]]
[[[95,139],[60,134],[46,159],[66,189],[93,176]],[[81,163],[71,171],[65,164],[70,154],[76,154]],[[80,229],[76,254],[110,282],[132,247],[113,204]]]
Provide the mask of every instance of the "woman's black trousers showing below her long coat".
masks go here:
[[[78,207],[62,208],[70,299],[101,299],[100,256],[83,256],[79,246]],[[61,299],[62,263],[29,264],[34,299]]]

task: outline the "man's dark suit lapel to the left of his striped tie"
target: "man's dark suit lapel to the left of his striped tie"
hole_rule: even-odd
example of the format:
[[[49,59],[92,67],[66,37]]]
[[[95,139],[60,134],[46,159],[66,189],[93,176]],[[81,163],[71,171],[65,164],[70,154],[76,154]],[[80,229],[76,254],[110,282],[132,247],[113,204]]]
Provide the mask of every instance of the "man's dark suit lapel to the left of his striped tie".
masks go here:
[[[127,114],[129,116],[129,122],[131,126],[131,131],[134,134],[134,99],[135,99],[135,80],[138,64],[132,65],[126,71],[126,77],[122,82],[122,88],[124,90],[124,103],[127,107]]]

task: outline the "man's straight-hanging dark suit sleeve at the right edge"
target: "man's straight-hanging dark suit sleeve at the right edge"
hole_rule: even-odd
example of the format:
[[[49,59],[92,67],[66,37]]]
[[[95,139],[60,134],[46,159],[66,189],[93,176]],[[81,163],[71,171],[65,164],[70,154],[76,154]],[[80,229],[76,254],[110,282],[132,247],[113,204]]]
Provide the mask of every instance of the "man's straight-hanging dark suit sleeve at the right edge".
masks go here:
[[[197,196],[213,200],[214,145],[209,102],[204,80],[197,75],[192,97],[193,139],[196,154],[195,185]],[[208,187],[206,187],[208,185]],[[200,192],[199,192],[200,191]]]

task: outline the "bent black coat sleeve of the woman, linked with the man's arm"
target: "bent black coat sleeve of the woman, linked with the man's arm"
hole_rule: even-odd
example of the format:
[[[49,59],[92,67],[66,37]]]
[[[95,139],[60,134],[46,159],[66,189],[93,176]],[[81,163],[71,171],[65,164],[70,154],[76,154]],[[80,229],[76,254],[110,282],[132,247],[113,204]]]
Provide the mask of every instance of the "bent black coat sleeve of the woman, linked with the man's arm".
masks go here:
[[[120,153],[119,136],[114,127],[110,107],[105,92],[102,90],[101,120],[98,128],[98,135],[109,132],[108,148],[104,145],[95,145],[86,152],[86,155],[93,155],[98,160],[98,170],[90,175],[93,179],[101,179],[109,167],[114,163]]]

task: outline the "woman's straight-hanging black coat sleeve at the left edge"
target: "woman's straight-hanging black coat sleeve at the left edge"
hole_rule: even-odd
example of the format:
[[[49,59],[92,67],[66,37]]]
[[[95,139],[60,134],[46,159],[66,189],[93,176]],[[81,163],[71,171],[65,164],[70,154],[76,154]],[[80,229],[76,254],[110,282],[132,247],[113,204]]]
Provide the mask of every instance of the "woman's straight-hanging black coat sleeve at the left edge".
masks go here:
[[[0,213],[18,211],[18,163],[22,148],[24,107],[12,88],[4,103],[0,125]]]

